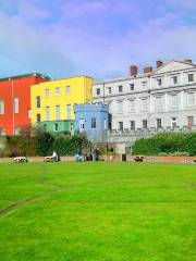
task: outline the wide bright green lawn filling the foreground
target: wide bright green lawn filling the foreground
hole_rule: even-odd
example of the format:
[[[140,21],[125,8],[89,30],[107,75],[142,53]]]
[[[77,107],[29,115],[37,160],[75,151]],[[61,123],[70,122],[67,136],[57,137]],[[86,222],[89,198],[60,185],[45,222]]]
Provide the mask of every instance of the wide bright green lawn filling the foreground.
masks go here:
[[[0,211],[2,261],[196,260],[196,165],[0,164]]]

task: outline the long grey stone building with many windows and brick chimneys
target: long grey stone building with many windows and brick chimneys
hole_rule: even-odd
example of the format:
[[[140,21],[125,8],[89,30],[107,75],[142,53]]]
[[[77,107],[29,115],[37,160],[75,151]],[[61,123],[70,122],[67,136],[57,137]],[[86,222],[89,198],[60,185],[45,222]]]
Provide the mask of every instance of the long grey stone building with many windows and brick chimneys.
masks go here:
[[[93,101],[109,104],[109,142],[124,153],[135,139],[157,132],[196,129],[196,65],[192,60],[157,61],[137,74],[131,65],[125,78],[95,83]]]

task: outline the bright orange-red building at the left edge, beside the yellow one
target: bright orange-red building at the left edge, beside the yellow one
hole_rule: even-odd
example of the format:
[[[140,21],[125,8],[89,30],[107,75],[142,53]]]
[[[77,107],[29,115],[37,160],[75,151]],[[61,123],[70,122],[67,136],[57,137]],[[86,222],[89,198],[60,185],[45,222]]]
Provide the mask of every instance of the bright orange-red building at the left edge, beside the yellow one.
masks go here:
[[[41,74],[0,78],[0,136],[17,135],[30,124],[30,86],[46,80]]]

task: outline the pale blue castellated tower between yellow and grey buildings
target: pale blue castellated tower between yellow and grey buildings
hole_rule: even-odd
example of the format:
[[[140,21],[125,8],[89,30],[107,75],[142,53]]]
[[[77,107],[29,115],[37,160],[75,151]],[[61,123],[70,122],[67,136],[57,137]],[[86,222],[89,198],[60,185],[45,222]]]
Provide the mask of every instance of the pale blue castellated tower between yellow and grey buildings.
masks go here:
[[[107,142],[107,132],[109,127],[109,107],[108,104],[76,104],[75,130],[85,133],[93,142]]]

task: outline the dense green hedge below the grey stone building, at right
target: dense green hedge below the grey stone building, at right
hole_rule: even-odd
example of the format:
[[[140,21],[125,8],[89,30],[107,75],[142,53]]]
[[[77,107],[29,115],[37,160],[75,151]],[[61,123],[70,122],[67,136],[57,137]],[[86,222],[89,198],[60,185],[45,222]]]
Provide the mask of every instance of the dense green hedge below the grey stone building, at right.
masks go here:
[[[158,134],[150,138],[136,140],[132,148],[133,154],[144,156],[174,154],[176,152],[196,156],[196,132]]]

